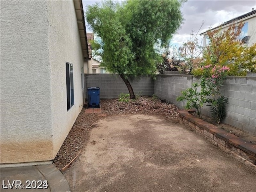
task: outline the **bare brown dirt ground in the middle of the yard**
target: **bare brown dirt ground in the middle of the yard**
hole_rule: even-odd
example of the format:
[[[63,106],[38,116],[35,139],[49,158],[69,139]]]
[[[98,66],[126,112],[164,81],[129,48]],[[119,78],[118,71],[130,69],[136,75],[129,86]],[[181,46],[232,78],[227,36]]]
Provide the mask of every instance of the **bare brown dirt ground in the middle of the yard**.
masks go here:
[[[255,192],[256,173],[160,116],[99,120],[64,172],[72,192]]]

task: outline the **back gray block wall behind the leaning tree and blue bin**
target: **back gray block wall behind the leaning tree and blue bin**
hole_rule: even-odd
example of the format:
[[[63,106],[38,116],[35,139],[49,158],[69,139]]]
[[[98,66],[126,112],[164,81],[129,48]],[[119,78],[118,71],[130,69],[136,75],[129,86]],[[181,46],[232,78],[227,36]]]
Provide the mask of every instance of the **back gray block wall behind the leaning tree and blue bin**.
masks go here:
[[[118,98],[120,93],[129,93],[128,89],[117,74],[85,74],[85,95],[88,87],[99,87],[100,98]],[[154,94],[154,80],[151,77],[141,77],[130,80],[135,94],[152,96]]]

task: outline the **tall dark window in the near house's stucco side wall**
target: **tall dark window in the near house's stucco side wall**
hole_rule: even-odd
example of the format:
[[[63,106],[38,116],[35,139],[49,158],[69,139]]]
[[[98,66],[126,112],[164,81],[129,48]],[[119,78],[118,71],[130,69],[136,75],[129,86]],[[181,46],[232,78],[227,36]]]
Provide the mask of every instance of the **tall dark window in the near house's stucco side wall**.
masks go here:
[[[66,62],[66,83],[67,83],[67,109],[74,105],[74,78],[73,64]]]

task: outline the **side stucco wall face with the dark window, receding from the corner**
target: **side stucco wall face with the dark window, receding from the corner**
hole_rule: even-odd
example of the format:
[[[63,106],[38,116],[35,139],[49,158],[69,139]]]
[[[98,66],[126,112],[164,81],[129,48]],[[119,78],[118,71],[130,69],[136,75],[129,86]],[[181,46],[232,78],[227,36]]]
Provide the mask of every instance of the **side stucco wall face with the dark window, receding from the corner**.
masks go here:
[[[53,156],[83,106],[83,54],[73,1],[48,1],[48,43],[52,94]],[[73,64],[74,106],[67,111],[66,62]]]

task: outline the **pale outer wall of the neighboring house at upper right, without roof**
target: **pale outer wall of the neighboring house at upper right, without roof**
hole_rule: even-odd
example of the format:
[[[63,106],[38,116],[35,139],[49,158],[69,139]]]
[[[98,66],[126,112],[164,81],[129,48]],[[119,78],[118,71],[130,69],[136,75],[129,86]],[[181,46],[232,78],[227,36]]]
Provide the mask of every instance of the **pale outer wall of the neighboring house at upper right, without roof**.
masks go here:
[[[251,16],[248,16],[247,18],[242,18],[240,20],[237,20],[236,22],[234,23],[239,23],[239,22],[248,22],[248,34],[249,36],[251,36],[249,42],[248,42],[248,46],[252,46],[252,44],[256,43],[256,14],[253,14]],[[220,31],[224,31],[224,30],[227,30],[228,27],[231,25],[232,23],[230,24],[227,24],[227,25],[224,25],[224,26],[221,26],[220,27]],[[219,30],[219,28],[215,29],[215,30]],[[206,38],[207,38],[207,34],[205,33],[204,34],[204,43],[203,43],[203,46],[205,47],[206,46]]]

